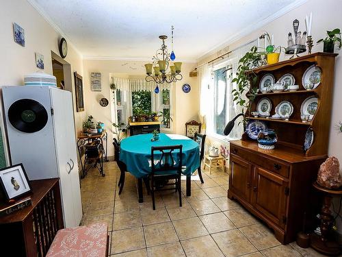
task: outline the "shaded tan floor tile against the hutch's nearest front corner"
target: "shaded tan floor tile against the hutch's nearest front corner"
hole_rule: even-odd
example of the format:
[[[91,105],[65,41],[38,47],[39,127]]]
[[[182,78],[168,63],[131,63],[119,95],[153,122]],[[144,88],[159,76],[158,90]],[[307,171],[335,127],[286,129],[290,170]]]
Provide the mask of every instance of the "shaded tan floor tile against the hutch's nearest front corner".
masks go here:
[[[280,245],[279,241],[274,237],[274,234],[261,223],[240,228],[240,231],[259,250]]]

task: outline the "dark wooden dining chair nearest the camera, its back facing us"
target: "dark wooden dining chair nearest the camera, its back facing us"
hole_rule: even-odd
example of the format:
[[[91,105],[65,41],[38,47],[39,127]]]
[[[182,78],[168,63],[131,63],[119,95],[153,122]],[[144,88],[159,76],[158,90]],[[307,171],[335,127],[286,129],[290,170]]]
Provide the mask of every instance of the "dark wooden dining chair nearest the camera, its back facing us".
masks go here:
[[[153,210],[155,210],[155,191],[178,191],[179,206],[182,206],[182,149],[183,145],[151,147],[150,192]],[[157,185],[165,180],[174,180],[174,183],[167,183],[159,188]],[[169,187],[169,185],[174,185],[174,187]]]

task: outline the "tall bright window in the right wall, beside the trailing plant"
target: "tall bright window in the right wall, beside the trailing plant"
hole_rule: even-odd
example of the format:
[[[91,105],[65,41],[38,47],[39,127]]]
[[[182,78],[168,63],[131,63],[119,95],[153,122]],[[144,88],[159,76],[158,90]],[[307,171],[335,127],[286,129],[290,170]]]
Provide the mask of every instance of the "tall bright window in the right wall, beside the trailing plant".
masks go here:
[[[228,122],[228,86],[225,70],[226,67],[213,71],[213,132],[222,136]]]

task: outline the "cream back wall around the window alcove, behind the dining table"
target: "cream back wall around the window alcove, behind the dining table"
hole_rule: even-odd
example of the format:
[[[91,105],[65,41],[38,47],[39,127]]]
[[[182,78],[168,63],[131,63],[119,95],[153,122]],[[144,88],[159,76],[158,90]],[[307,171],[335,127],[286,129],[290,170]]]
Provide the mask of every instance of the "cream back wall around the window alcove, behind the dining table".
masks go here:
[[[105,129],[108,132],[108,156],[114,155],[114,149],[111,147],[113,134],[111,132],[111,108],[110,105],[102,107],[98,103],[101,97],[111,99],[110,74],[118,77],[144,77],[145,67],[143,61],[125,61],[125,60],[83,60],[83,86],[85,92],[85,103],[87,115],[92,115],[95,121],[105,123]],[[183,63],[183,79],[176,82],[174,90],[174,105],[172,106],[172,132],[176,134],[185,134],[185,123],[192,119],[198,119],[198,78],[189,77],[189,72],[194,69],[196,64]],[[94,92],[90,90],[90,73],[101,72],[102,91]],[[183,93],[183,84],[188,83],[192,87],[189,93]]]

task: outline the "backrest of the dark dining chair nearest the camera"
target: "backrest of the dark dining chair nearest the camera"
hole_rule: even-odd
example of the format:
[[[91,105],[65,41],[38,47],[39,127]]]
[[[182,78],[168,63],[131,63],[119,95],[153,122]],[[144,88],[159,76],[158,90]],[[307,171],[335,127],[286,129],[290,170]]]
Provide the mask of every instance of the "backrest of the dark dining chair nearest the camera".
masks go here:
[[[151,147],[151,171],[152,175],[157,171],[182,172],[183,145],[170,145]],[[155,162],[156,161],[156,162]]]

